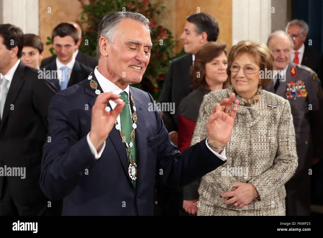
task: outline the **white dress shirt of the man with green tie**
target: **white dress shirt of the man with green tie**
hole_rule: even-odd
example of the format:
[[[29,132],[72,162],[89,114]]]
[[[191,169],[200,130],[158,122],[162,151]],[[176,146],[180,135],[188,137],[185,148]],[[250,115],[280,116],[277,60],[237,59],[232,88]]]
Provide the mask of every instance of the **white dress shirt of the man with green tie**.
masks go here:
[[[107,78],[105,78],[98,70],[98,66],[95,67],[95,70],[94,70],[94,75],[95,77],[97,78],[98,80],[98,83],[99,85],[101,86],[102,88],[102,91],[103,93],[106,93],[106,92],[113,92],[114,94],[117,94],[119,95],[122,91],[126,92],[128,94],[128,105],[129,105],[129,110],[130,110],[130,97],[129,97],[129,85],[125,88],[125,90],[122,90],[121,88],[119,88],[117,85],[115,85],[114,83],[112,83],[110,80],[108,80]],[[110,105],[111,105],[111,110],[113,110],[117,104],[110,100],[109,101]],[[130,110],[131,112],[131,110]],[[118,115],[117,117],[117,123],[121,126],[120,124],[120,115]],[[115,128],[112,128],[112,130],[117,130]],[[121,128],[122,130],[122,128]],[[91,132],[91,131],[90,131]],[[90,151],[91,153],[94,155],[94,157],[96,159],[99,159],[102,155],[102,152],[105,148],[105,141],[103,142],[103,145],[101,146],[101,148],[99,148],[99,150],[97,151],[94,147],[94,145],[92,144],[91,140],[90,140],[90,132],[88,133],[86,139],[87,139],[87,142],[89,144],[89,147],[90,147]],[[121,139],[121,137],[120,137]],[[207,148],[209,148],[210,151],[212,151],[215,155],[217,155],[221,160],[225,161],[226,160],[226,156],[225,156],[225,148],[223,149],[223,151],[219,154],[219,153],[216,153],[214,150],[212,150],[206,143],[205,141],[205,144],[207,146]],[[125,145],[126,146],[126,145]]]

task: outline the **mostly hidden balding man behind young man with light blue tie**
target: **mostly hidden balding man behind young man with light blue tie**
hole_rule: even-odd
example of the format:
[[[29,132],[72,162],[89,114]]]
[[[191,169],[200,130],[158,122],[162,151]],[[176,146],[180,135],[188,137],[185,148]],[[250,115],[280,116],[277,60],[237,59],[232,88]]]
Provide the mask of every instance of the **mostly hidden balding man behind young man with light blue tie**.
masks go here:
[[[73,57],[78,62],[90,67],[92,70],[98,65],[98,60],[94,57],[89,55],[83,54],[81,51],[78,50],[80,44],[82,43],[82,29],[79,24],[76,22],[68,22],[69,24],[73,25],[78,31],[78,41],[75,43],[75,51],[73,53]],[[57,55],[52,55],[43,59],[40,65],[40,68],[45,67],[46,65],[55,62]]]

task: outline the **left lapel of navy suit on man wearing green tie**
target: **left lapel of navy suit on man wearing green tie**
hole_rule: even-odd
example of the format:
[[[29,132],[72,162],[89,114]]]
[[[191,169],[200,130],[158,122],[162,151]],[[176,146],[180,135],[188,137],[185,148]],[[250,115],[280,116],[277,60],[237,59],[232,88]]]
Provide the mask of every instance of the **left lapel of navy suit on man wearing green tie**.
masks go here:
[[[92,80],[94,80],[98,83],[98,80],[96,79],[94,73],[92,73],[91,75],[93,76]],[[95,89],[90,87],[90,80],[88,80],[88,82],[89,83],[85,85],[85,92],[87,94],[93,96],[93,98],[89,101],[89,105],[92,108],[98,95],[95,94]],[[99,83],[98,83],[97,89],[99,89],[101,92],[103,92]],[[108,106],[111,108],[110,103],[108,103]],[[137,131],[136,131],[136,133],[137,133]],[[137,134],[136,134],[136,137],[137,137]],[[109,141],[113,144],[115,150],[117,151],[120,161],[121,161],[123,168],[125,170],[126,176],[128,177],[129,181],[131,182],[130,176],[128,174],[129,162],[128,162],[128,156],[127,156],[127,151],[126,151],[126,145],[121,140],[119,130],[117,130],[114,127],[112,128],[112,130],[109,133],[106,143],[109,143]]]

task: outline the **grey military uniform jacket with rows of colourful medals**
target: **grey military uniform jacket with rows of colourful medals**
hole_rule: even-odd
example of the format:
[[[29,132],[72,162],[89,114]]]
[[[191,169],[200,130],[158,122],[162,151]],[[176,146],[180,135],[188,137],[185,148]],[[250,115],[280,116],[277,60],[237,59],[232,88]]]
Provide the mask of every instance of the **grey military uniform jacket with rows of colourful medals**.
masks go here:
[[[274,92],[274,84],[270,83],[267,90]],[[308,174],[312,158],[322,154],[321,82],[307,66],[290,62],[276,94],[287,99],[291,106],[299,158],[295,176]]]

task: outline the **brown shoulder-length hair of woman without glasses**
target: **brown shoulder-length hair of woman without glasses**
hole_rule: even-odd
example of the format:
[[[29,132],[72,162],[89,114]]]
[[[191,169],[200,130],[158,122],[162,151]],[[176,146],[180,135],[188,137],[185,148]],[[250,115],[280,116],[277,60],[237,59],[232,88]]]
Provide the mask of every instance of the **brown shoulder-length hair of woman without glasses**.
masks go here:
[[[205,43],[195,54],[194,66],[191,67],[190,74],[193,77],[191,88],[201,88],[202,90],[209,89],[209,85],[205,81],[205,64],[211,62],[214,58],[220,56],[222,52],[227,55],[226,44],[208,42]],[[197,73],[200,73],[197,77]],[[229,78],[223,83],[223,88],[230,85]]]

